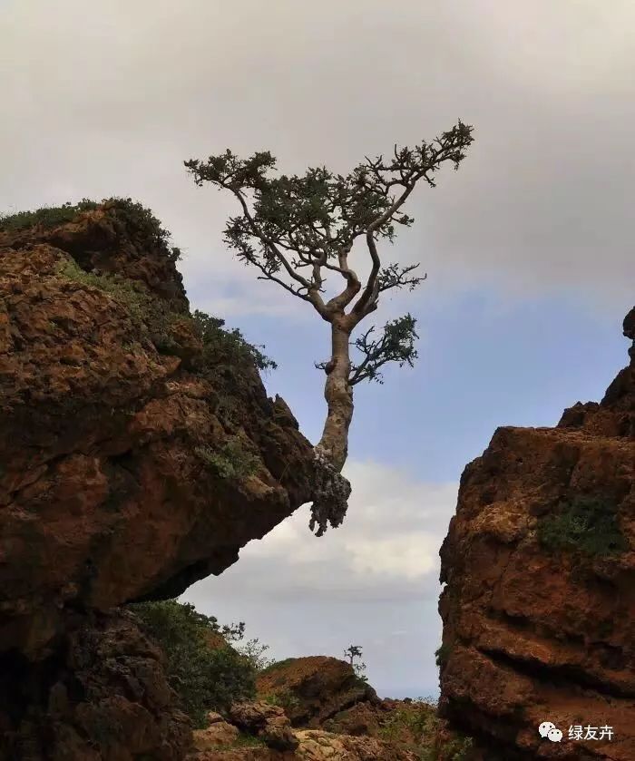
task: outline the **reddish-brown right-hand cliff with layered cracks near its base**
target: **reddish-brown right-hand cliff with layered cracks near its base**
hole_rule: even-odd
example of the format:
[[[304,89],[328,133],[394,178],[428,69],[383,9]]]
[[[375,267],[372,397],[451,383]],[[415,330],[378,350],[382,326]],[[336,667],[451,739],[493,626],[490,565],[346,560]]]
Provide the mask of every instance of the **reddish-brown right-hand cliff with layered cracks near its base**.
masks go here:
[[[635,758],[635,309],[624,335],[630,365],[601,403],[499,428],[461,479],[441,707],[484,758]]]

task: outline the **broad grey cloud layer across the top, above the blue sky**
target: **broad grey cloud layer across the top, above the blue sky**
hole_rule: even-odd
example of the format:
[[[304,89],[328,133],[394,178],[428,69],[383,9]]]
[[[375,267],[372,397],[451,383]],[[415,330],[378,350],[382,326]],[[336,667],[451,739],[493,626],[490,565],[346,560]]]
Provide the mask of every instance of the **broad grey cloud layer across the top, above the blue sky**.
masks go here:
[[[194,188],[182,161],[231,146],[270,149],[284,171],[347,171],[461,116],[476,126],[467,161],[414,194],[415,228],[386,259],[421,260],[435,294],[487,285],[502,299],[629,306],[627,0],[448,0],[398,14],[379,0],[111,0],[88,24],[83,9],[33,0],[0,19],[12,73],[0,208],[130,194],[173,230],[186,284],[211,304],[301,314],[223,249],[233,206]],[[231,296],[228,278],[240,284]]]

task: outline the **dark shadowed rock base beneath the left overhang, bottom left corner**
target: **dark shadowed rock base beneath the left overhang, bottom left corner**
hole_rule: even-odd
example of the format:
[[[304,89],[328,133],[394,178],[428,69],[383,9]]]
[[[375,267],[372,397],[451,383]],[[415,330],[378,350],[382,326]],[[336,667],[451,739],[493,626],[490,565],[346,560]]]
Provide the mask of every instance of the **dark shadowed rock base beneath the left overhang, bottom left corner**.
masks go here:
[[[178,761],[190,719],[130,613],[76,615],[37,663],[0,655],[2,761]]]

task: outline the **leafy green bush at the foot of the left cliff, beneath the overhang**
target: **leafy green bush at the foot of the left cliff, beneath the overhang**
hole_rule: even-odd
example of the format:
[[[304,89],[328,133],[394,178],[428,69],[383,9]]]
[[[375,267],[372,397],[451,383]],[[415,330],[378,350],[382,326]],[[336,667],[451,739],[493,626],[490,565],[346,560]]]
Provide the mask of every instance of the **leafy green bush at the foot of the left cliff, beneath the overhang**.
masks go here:
[[[176,600],[128,607],[165,652],[168,680],[196,727],[205,726],[210,710],[224,711],[236,700],[255,697],[256,670],[249,659],[229,645],[210,647],[206,639],[210,633],[241,639],[244,624],[220,627],[213,616]]]

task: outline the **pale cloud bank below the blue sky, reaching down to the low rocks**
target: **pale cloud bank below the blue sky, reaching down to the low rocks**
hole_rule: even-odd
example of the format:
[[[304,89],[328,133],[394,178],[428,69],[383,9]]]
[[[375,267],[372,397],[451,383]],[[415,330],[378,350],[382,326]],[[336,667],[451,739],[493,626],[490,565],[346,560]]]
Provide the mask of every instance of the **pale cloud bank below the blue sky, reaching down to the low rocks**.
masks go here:
[[[302,508],[183,599],[221,621],[244,620],[274,658],[341,658],[352,642],[380,694],[434,694],[438,551],[458,484],[377,462],[350,461],[347,476],[353,495],[340,528],[317,539]]]

